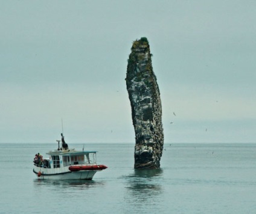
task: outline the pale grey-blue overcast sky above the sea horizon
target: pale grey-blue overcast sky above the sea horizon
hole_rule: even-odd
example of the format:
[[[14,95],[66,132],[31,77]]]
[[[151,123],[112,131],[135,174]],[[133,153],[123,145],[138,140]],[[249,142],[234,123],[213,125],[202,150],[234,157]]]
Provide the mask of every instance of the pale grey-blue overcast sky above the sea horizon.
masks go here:
[[[147,37],[165,144],[256,142],[256,1],[0,1],[0,142],[133,142]],[[176,116],[173,114],[175,112]]]

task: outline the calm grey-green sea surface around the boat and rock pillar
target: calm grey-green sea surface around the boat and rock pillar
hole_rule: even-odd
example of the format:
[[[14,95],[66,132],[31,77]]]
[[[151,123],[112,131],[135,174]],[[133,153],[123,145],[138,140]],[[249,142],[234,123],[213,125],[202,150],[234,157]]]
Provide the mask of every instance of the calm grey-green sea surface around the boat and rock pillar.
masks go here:
[[[256,213],[256,144],[165,143],[161,170],[146,171],[133,169],[134,146],[85,144],[106,170],[46,181],[33,173],[34,154],[57,143],[0,144],[0,213]]]

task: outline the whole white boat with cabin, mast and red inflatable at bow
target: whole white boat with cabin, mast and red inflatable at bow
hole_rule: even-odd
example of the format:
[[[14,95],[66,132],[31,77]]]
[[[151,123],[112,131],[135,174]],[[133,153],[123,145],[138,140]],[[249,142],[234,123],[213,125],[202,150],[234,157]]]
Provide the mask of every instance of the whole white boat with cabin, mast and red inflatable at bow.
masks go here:
[[[97,165],[97,151],[77,151],[74,148],[68,148],[63,134],[62,146],[60,140],[58,148],[54,151],[49,151],[49,158],[43,159],[40,153],[34,157],[33,172],[38,179],[48,180],[92,180],[94,174],[98,171],[105,170],[105,165]]]

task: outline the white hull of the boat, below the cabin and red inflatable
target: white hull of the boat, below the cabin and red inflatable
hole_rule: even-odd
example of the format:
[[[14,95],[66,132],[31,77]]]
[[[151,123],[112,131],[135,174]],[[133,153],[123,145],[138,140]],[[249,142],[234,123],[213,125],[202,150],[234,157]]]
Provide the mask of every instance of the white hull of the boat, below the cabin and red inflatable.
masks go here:
[[[92,180],[97,171],[101,170],[70,171],[68,167],[51,169],[36,166],[33,169],[37,179],[45,180]]]

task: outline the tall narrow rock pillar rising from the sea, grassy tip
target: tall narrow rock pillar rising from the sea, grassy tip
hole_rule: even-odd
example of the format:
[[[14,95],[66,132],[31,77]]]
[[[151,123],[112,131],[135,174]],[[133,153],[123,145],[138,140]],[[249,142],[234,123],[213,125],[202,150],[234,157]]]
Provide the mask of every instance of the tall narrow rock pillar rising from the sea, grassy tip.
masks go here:
[[[132,107],[135,129],[135,169],[158,169],[164,133],[162,106],[156,76],[152,67],[149,41],[133,41],[129,55],[126,87]]]

